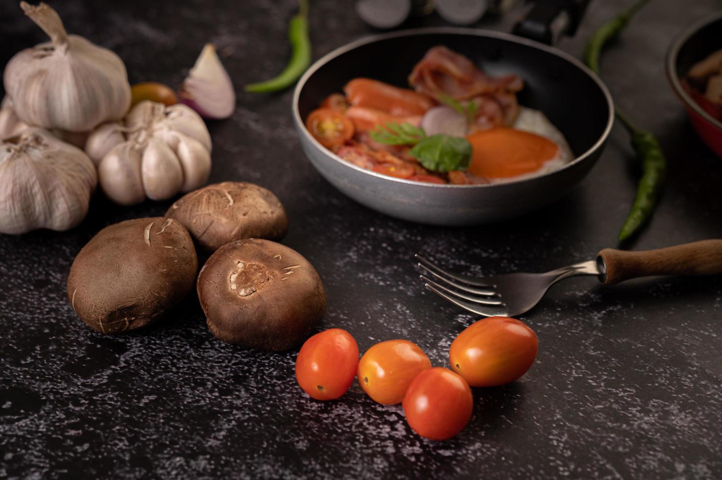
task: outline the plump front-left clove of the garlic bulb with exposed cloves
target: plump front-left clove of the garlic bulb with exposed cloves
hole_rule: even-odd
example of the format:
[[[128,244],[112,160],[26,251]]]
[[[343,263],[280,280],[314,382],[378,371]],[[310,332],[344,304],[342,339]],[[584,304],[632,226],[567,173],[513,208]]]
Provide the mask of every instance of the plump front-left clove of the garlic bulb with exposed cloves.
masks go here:
[[[141,155],[134,142],[125,141],[110,150],[97,167],[100,186],[117,204],[134,205],[145,199]]]

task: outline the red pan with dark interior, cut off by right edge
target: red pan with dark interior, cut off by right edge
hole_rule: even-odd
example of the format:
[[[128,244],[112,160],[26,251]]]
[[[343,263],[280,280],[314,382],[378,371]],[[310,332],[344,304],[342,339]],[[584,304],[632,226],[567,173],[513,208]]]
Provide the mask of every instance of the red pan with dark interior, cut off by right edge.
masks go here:
[[[722,12],[705,17],[684,29],[672,40],[666,58],[666,74],[672,90],[679,100],[682,100],[697,135],[718,157],[722,157],[722,122],[705,112],[695,100],[692,100],[679,80],[686,77],[687,72],[698,61],[704,60],[710,53],[722,48],[721,31]]]

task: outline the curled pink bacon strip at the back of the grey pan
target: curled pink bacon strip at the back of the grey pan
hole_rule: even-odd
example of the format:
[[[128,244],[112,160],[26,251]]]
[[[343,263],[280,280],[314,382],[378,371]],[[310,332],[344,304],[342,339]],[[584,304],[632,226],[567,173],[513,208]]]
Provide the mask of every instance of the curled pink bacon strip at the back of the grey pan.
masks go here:
[[[409,84],[422,94],[437,100],[445,93],[456,100],[465,100],[486,93],[505,90],[518,92],[524,86],[517,75],[491,77],[471,63],[469,58],[437,46],[427,51],[414,66]]]

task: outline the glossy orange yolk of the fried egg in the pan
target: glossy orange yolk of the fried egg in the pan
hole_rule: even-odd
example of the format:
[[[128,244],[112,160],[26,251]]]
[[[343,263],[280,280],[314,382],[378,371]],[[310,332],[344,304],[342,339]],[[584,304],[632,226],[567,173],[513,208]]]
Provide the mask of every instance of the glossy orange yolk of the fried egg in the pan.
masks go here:
[[[473,149],[469,173],[482,178],[509,178],[536,172],[559,153],[553,141],[513,128],[476,131],[466,139]]]

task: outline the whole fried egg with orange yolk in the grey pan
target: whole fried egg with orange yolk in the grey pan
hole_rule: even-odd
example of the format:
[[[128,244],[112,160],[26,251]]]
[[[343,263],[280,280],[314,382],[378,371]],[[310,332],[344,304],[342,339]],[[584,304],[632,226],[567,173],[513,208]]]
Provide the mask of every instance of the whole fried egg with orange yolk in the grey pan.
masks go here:
[[[539,110],[521,108],[512,128],[467,137],[473,149],[469,173],[505,183],[559,170],[574,159],[564,135]]]

